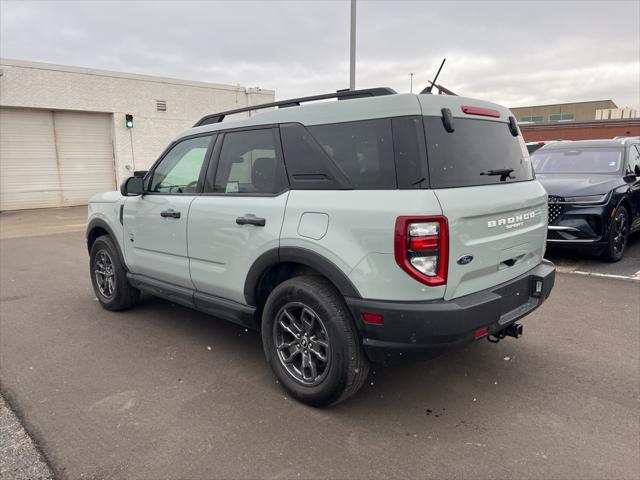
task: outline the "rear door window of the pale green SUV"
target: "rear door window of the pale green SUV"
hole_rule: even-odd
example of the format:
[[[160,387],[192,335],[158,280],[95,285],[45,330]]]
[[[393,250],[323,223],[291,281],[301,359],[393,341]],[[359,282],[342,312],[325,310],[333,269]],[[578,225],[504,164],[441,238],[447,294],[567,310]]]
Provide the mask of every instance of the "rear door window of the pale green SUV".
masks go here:
[[[274,129],[224,135],[214,192],[279,193],[287,181]]]

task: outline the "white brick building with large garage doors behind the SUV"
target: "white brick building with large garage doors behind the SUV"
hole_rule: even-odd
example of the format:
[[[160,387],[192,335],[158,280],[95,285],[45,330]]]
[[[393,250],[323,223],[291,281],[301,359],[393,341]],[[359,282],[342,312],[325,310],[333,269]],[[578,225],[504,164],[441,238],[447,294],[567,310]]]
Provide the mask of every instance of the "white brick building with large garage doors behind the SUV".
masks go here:
[[[0,210],[86,204],[202,116],[273,100],[259,88],[0,60]]]

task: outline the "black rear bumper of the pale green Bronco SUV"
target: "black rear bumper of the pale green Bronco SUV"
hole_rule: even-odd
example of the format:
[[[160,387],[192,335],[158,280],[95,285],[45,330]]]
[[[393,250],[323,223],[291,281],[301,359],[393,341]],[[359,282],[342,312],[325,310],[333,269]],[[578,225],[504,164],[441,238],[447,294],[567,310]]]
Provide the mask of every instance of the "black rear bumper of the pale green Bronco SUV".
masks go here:
[[[539,294],[536,281],[542,282]],[[489,327],[498,332],[539,307],[555,281],[553,263],[543,260],[527,273],[487,290],[451,301],[388,302],[347,298],[356,319],[365,352],[374,362],[438,351],[474,339],[474,332]],[[383,316],[383,325],[364,323],[364,312]]]

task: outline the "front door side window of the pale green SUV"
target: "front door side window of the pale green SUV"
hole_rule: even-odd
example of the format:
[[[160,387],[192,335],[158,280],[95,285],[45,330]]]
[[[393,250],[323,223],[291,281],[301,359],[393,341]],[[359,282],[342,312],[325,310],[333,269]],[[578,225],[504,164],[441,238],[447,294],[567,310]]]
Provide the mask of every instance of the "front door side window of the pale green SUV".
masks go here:
[[[189,138],[175,145],[153,171],[149,191],[187,195],[195,193],[211,137]]]

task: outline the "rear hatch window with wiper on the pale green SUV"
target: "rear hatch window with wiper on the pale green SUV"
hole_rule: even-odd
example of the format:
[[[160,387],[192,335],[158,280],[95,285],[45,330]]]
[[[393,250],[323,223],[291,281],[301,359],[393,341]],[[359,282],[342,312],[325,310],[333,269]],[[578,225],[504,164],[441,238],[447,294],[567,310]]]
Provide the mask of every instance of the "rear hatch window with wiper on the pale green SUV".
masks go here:
[[[431,188],[533,180],[522,136],[511,135],[507,123],[454,118],[453,125],[447,132],[441,117],[424,117]],[[510,178],[495,174],[504,169],[513,169]]]

